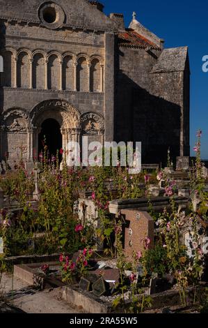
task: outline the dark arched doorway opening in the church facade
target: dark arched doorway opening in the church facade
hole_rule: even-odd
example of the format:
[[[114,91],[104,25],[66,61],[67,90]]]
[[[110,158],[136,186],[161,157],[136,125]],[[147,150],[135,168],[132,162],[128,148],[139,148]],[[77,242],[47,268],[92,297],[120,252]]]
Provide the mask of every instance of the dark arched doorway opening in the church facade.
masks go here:
[[[56,119],[46,119],[41,126],[38,136],[38,154],[44,154],[44,147],[47,145],[47,155],[56,156],[58,151],[59,160],[61,160],[60,149],[62,149],[61,127]]]

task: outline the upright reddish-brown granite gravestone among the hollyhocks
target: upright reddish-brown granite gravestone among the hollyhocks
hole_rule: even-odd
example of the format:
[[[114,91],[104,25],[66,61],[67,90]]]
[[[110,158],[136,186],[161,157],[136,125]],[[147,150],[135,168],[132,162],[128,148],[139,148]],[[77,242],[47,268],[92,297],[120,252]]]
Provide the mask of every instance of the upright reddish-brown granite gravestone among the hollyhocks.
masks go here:
[[[148,248],[154,247],[154,220],[147,212],[136,209],[122,209],[121,215],[125,219],[125,256],[131,261],[133,252],[145,251],[145,238],[150,239]]]

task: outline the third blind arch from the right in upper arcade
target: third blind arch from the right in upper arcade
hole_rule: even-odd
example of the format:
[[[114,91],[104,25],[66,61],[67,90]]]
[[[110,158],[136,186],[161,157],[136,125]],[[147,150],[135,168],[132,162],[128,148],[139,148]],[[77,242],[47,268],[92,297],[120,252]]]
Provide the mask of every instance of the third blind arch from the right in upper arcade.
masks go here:
[[[74,66],[71,56],[63,59],[63,90],[74,90]]]

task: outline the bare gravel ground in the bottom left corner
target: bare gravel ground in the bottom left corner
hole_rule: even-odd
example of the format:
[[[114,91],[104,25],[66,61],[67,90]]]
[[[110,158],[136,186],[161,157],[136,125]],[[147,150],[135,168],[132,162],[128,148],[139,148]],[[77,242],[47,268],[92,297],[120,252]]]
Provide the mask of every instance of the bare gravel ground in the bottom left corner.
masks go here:
[[[23,281],[3,274],[1,290],[6,302],[26,313],[80,313],[62,299],[62,288],[35,290]]]

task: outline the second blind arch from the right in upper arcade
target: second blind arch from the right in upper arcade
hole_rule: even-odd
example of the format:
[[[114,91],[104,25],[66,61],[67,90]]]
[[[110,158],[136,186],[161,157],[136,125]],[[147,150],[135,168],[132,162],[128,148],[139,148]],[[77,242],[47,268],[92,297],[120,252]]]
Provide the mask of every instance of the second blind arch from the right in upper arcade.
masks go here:
[[[79,58],[77,64],[77,91],[88,91],[88,66],[86,58]]]

